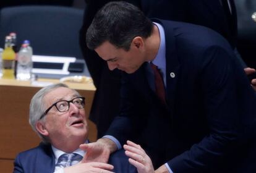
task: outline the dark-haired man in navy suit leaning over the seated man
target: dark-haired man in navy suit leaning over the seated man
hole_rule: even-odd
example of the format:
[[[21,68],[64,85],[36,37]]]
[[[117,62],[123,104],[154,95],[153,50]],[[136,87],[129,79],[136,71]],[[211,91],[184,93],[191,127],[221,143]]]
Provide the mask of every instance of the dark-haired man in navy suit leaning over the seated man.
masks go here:
[[[83,145],[87,161],[136,136],[155,172],[253,172],[256,99],[233,49],[208,28],[153,22],[110,2],[88,28],[88,48],[124,74],[119,117],[104,138]]]

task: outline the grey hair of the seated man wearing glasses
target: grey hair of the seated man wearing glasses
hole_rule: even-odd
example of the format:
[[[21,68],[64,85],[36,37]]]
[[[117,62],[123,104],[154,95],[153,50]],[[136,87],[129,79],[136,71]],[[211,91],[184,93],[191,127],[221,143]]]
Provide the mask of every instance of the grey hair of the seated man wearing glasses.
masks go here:
[[[36,130],[36,122],[40,120],[40,117],[42,114],[44,114],[46,105],[45,102],[43,101],[43,98],[45,97],[46,94],[48,94],[50,91],[56,89],[56,88],[69,88],[64,83],[57,83],[53,85],[46,86],[44,88],[41,88],[31,99],[30,102],[30,112],[29,112],[29,124],[31,125],[32,129],[38,134],[38,136],[43,140],[45,143],[49,143],[48,138],[46,138],[44,135],[41,135],[38,130]],[[75,91],[75,90],[74,90]],[[77,91],[75,91],[77,93]],[[77,93],[79,95],[79,93]],[[45,121],[45,117],[43,117],[41,120]]]

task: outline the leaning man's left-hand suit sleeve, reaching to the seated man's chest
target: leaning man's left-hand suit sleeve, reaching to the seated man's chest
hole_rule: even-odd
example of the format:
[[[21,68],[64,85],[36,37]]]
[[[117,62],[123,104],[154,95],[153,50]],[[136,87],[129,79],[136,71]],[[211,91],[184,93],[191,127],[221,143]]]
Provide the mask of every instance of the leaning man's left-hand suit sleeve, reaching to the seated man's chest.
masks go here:
[[[147,108],[143,105],[140,94],[132,87],[129,75],[122,75],[121,84],[121,107],[119,109],[119,116],[117,116],[106,135],[115,137],[121,145],[126,143],[126,140],[137,141],[137,135],[145,124],[147,116]]]

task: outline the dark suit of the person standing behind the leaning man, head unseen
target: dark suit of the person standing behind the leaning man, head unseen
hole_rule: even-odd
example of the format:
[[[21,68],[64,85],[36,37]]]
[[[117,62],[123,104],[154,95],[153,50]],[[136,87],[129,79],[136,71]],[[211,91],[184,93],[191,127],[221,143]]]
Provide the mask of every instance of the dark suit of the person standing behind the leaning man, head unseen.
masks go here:
[[[111,72],[106,62],[94,51],[88,50],[85,44],[85,33],[94,15],[98,9],[110,1],[85,0],[85,2],[87,6],[83,17],[83,27],[80,30],[80,45],[88,70],[97,88],[90,119],[96,123],[98,137],[101,137],[118,112],[116,108],[119,107],[121,74],[118,70]],[[230,0],[233,8],[231,19],[226,17],[218,0],[127,0],[127,2],[138,6],[148,17],[195,23],[211,28],[223,35],[233,48],[236,46],[236,7],[233,0]],[[245,66],[242,60],[241,63]],[[141,113],[143,114],[143,112]]]

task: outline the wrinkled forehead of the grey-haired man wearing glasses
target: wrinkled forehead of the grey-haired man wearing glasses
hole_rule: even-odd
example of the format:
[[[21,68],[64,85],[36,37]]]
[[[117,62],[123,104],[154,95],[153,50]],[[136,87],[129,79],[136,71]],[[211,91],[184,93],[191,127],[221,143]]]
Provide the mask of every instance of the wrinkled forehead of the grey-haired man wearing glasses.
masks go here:
[[[54,88],[53,90],[46,93],[46,95],[43,98],[43,101],[46,106],[51,106],[57,101],[70,100],[77,96],[80,96],[79,93],[77,93],[77,91],[72,90],[70,88],[66,88],[66,87],[59,87],[59,88]]]

